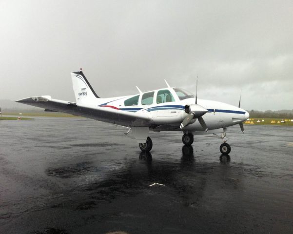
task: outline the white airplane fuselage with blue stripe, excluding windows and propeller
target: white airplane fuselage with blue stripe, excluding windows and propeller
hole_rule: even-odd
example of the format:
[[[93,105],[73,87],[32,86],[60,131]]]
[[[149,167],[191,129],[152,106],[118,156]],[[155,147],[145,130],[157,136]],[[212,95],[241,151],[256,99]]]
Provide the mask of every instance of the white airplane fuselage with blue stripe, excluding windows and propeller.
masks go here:
[[[158,91],[160,90],[169,90],[175,101],[155,103],[156,98],[154,98],[152,104],[143,105],[141,103],[143,94],[154,92],[154,97],[156,97]],[[187,116],[184,110],[185,105],[195,103],[195,98],[179,100],[173,88],[159,89],[145,93],[116,98],[98,98],[93,100],[92,103],[87,104],[122,111],[145,113],[151,117],[151,120],[148,122],[151,131],[182,131],[179,128],[179,125]],[[138,95],[139,98],[137,105],[124,105],[125,100]],[[245,110],[223,102],[197,99],[197,103],[208,110],[203,118],[209,131],[239,124],[249,117],[248,112]],[[193,123],[189,124],[183,129],[183,132],[193,132],[194,134],[196,134],[198,131],[204,131],[204,129],[199,124],[199,122],[196,121],[196,119],[194,119]]]

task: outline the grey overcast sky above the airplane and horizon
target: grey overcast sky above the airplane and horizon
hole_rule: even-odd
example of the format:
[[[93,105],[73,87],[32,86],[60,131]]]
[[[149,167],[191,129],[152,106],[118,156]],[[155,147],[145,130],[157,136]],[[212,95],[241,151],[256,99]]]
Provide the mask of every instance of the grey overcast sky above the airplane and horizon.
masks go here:
[[[247,110],[293,109],[292,0],[0,0],[0,99],[75,101],[171,86]]]

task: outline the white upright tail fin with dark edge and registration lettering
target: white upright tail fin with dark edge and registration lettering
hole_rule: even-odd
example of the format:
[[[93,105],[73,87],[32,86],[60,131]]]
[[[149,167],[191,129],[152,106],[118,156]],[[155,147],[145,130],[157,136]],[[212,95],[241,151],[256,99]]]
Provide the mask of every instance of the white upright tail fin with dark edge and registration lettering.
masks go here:
[[[99,98],[81,70],[72,72],[71,79],[77,103],[89,103]]]

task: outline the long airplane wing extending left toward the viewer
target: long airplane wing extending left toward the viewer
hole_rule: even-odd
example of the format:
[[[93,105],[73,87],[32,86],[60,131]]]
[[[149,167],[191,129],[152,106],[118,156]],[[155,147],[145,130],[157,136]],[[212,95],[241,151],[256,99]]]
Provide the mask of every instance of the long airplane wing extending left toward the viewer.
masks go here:
[[[132,113],[108,107],[81,105],[69,101],[53,99],[50,96],[24,98],[17,100],[17,102],[126,127],[148,126],[148,123],[152,119],[147,111]]]

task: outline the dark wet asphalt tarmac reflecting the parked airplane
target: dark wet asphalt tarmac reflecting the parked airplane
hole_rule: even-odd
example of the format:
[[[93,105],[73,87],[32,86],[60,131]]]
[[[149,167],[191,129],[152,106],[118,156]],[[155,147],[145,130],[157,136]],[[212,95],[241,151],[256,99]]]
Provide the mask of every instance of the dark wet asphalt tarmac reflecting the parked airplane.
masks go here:
[[[293,128],[245,129],[221,162],[214,137],[151,133],[144,154],[114,125],[2,120],[0,233],[293,233]]]

